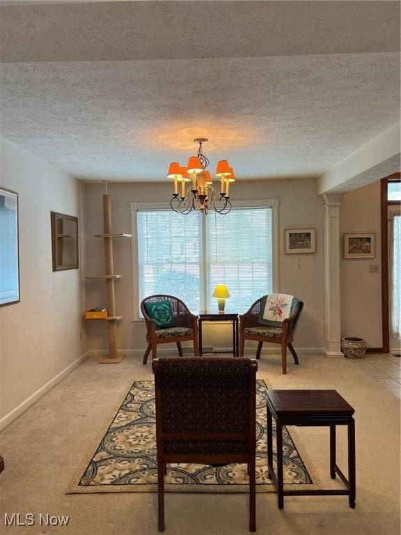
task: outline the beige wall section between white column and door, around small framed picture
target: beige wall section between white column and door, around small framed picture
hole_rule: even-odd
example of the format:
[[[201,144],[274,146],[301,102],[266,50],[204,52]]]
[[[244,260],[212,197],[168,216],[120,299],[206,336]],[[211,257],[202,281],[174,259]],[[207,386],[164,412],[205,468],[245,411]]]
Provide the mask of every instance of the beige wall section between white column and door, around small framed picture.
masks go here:
[[[380,182],[345,194],[341,203],[342,233],[376,233],[375,258],[343,258],[341,261],[342,335],[359,336],[366,340],[368,347],[380,348],[382,347]],[[379,271],[370,273],[370,265],[378,265]]]

